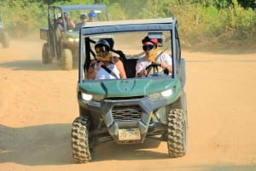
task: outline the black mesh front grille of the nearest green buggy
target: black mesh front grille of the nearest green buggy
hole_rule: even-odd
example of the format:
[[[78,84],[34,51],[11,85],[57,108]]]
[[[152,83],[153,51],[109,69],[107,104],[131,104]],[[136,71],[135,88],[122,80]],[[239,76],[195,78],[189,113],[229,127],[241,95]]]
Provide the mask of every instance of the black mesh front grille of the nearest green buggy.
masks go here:
[[[114,121],[141,120],[142,112],[139,105],[114,106],[112,109]]]

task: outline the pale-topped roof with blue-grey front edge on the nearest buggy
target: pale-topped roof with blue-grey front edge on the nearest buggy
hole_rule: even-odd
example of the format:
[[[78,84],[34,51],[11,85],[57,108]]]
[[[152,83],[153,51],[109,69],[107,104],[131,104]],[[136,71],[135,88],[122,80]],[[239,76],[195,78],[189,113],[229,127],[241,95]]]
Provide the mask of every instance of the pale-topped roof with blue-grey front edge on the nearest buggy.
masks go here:
[[[81,34],[90,35],[125,31],[172,31],[172,29],[175,29],[176,24],[176,18],[87,22],[81,28]]]

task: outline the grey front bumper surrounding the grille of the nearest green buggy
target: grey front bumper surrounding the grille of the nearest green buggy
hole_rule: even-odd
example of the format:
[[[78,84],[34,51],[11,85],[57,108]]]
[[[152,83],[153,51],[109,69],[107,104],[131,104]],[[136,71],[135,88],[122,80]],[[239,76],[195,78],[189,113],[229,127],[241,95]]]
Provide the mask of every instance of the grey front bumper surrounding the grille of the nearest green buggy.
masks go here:
[[[79,105],[102,114],[108,134],[118,144],[143,143],[148,134],[148,125],[153,111],[166,103],[164,99],[153,101],[146,97],[129,100],[103,100],[102,102],[85,102],[81,97],[79,98]],[[119,130],[132,128],[139,129],[140,139],[120,140]]]

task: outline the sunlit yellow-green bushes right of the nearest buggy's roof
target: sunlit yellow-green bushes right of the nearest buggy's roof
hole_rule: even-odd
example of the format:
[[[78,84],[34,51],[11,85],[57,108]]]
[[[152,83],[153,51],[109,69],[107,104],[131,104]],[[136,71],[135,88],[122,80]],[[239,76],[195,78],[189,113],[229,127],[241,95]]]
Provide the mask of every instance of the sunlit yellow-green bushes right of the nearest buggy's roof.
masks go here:
[[[241,8],[236,0],[233,3],[226,9],[187,4],[172,10],[179,21],[181,37],[185,39],[183,46],[193,47],[207,42],[212,45],[212,41],[223,46],[255,37],[256,13],[252,9]],[[255,46],[256,40],[254,42]]]

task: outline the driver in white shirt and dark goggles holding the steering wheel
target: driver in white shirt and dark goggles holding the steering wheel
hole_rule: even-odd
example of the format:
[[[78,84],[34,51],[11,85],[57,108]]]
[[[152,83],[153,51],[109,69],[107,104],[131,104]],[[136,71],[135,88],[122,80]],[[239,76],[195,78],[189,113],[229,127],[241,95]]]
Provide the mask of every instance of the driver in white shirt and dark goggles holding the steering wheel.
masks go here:
[[[163,69],[172,73],[172,58],[169,54],[160,51],[157,47],[158,40],[156,38],[144,37],[142,43],[145,55],[137,61],[136,77],[147,76],[148,71],[146,68],[152,64],[152,62],[160,64]]]

